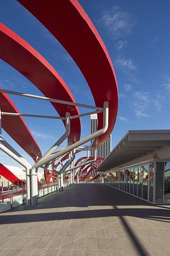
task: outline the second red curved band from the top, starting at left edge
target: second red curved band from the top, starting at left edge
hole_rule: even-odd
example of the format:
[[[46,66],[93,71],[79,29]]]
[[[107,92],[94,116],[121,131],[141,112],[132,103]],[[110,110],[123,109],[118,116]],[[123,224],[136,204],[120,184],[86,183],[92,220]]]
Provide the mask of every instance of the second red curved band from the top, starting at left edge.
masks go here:
[[[50,63],[2,23],[0,23],[0,42],[0,58],[27,77],[46,97],[75,102],[66,83]],[[60,116],[65,116],[66,112],[69,112],[71,116],[79,115],[77,107],[54,102],[52,105]],[[71,120],[69,145],[80,140],[80,131],[80,118],[74,118]],[[10,130],[10,136],[13,137],[13,129]],[[22,133],[20,132],[18,136],[22,136]],[[24,140],[24,136],[22,139]]]

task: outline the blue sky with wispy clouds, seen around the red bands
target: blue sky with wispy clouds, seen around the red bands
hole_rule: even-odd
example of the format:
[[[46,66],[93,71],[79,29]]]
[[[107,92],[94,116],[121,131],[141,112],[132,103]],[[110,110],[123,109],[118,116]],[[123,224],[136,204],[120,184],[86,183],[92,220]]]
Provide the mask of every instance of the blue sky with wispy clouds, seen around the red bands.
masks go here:
[[[79,1],[110,53],[119,90],[118,118],[112,147],[130,129],[169,129],[170,2],[135,0]],[[0,20],[29,42],[66,81],[77,102],[94,104],[78,67],[55,38],[17,1],[0,1]],[[1,47],[1,46],[0,46]],[[41,95],[36,87],[0,60],[0,86]],[[10,96],[22,113],[55,115],[49,102]],[[86,109],[80,109],[81,113]],[[64,132],[60,120],[25,118],[45,152]],[[82,118],[81,136],[89,134],[89,118]],[[4,138],[28,161],[31,158],[3,132]],[[0,162],[18,165],[0,152]]]

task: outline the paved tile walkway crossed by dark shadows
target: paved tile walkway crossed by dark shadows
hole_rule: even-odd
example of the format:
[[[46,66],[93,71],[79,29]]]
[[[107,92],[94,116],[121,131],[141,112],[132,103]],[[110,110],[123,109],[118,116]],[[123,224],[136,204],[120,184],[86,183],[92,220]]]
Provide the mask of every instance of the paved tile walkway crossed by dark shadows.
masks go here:
[[[170,208],[78,184],[0,214],[3,256],[170,255]]]

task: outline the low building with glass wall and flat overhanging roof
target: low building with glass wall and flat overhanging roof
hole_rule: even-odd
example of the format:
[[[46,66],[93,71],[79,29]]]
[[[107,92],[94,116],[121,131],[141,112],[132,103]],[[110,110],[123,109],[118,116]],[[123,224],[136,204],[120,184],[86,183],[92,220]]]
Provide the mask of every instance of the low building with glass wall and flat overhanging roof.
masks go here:
[[[170,204],[170,130],[127,132],[97,170],[114,188]]]

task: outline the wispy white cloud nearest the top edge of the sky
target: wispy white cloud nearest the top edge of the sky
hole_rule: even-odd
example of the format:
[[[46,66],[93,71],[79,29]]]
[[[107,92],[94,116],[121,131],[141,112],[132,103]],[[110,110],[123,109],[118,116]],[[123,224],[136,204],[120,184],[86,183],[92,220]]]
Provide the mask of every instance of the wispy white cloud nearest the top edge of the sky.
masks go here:
[[[134,26],[131,15],[118,6],[113,6],[111,10],[104,10],[100,21],[111,32],[114,40],[131,33]]]

